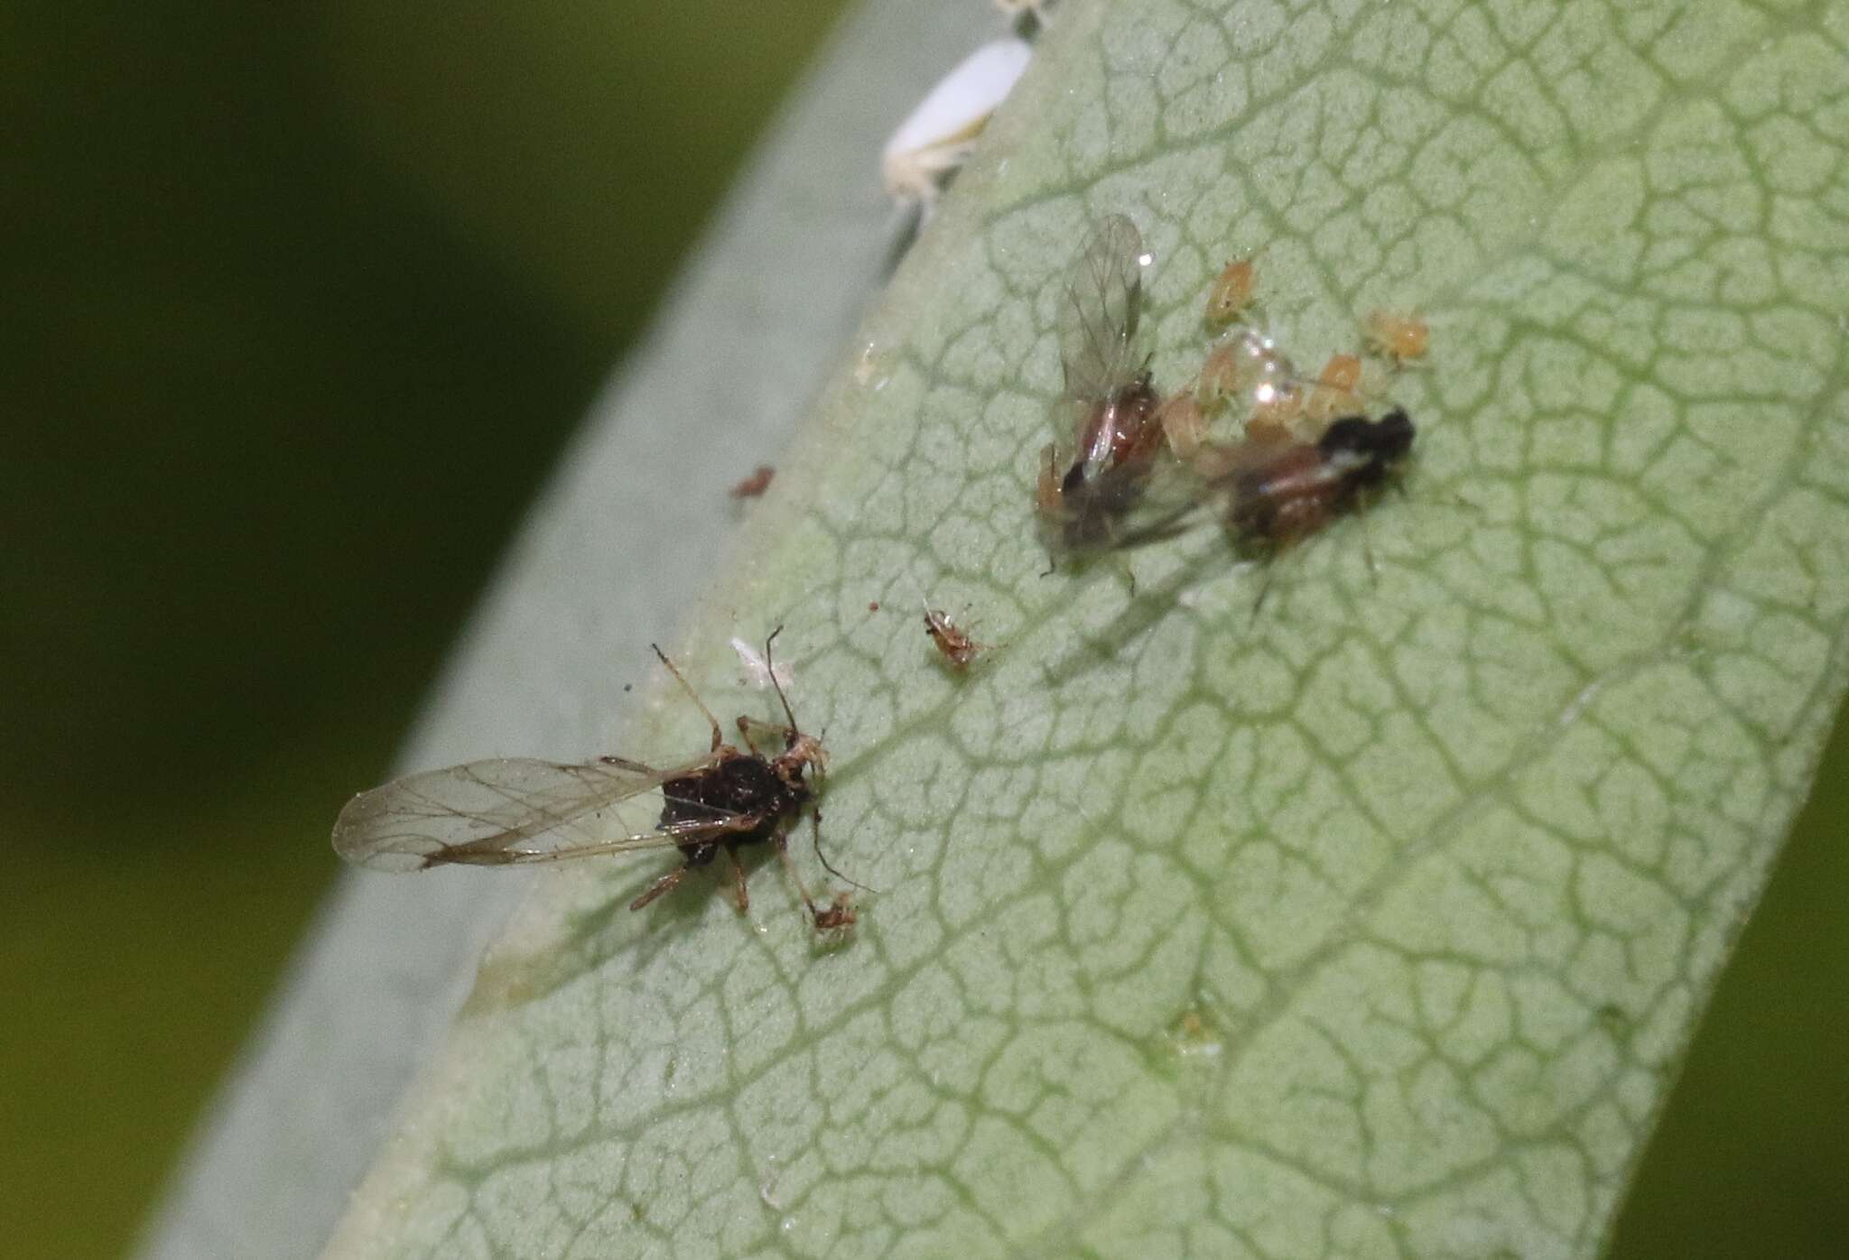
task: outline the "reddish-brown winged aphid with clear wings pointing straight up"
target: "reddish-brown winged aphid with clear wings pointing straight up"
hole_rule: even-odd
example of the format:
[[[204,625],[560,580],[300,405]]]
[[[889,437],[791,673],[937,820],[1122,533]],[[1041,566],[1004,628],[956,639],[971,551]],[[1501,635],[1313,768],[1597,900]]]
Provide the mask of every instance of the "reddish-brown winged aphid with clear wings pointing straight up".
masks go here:
[[[1122,214],[1091,229],[1065,277],[1056,418],[1074,449],[1041,453],[1034,506],[1054,554],[1141,541],[1137,510],[1150,499],[1163,449],[1161,395],[1137,349],[1143,316],[1143,235]]]

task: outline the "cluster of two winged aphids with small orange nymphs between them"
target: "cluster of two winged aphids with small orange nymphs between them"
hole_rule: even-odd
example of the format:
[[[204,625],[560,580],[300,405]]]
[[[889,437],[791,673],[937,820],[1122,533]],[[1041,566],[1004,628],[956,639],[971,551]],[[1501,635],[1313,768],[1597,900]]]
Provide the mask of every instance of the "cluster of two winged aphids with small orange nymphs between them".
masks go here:
[[[1135,224],[1111,214],[1067,272],[1056,429],[1072,440],[1045,449],[1034,491],[1048,552],[1137,547],[1215,510],[1243,552],[1272,556],[1368,503],[1411,453],[1414,427],[1402,408],[1366,414],[1361,360],[1337,355],[1304,381],[1270,338],[1237,321],[1254,273],[1235,260],[1204,312],[1226,333],[1163,397],[1137,347],[1146,259]],[[1376,312],[1366,327],[1396,364],[1426,349],[1416,316]]]

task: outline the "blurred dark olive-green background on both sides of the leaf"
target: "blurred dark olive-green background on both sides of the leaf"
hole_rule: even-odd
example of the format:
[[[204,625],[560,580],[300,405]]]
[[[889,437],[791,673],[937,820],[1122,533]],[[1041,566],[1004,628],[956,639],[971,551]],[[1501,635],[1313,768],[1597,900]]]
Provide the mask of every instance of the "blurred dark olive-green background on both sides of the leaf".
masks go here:
[[[0,0],[7,1254],[131,1243],[329,820],[839,7]],[[1843,1254],[1845,757],[1614,1254]]]

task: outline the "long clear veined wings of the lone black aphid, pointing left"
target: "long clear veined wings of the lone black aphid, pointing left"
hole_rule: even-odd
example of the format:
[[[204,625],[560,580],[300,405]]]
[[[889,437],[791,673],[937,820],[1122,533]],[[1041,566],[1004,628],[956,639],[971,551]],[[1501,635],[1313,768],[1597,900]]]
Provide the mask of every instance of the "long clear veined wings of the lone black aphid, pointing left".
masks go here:
[[[714,809],[662,828],[664,781],[717,759],[669,770],[606,757],[558,765],[531,757],[470,761],[392,780],[361,793],[335,820],[335,852],[373,870],[442,865],[505,866],[592,854],[686,844],[749,828],[754,820]]]

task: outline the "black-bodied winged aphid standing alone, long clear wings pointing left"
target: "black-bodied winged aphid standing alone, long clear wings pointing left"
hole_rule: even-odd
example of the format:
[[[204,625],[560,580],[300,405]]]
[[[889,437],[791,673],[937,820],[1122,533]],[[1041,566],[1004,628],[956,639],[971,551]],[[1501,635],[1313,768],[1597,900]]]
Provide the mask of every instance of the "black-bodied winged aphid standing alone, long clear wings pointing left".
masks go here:
[[[765,661],[771,660],[778,632],[780,628],[773,630],[764,641]],[[675,663],[660,648],[655,654],[712,724],[712,746],[704,756],[671,769],[614,756],[577,765],[499,757],[410,774],[348,802],[335,820],[335,852],[373,870],[427,870],[679,848],[680,865],[631,902],[632,911],[723,852],[736,870],[738,909],[745,913],[751,894],[745,890],[738,850],[769,844],[817,931],[852,924],[854,915],[845,902],[817,905],[790,861],[790,824],[814,806],[827,754],[821,741],[797,728],[790,698],[775,674],[771,685],[777,687],[790,724],[773,726],[740,717],[738,730],[745,748],[736,748],[725,743],[719,721]],[[782,735],[784,750],[767,757],[756,750],[754,735]],[[651,820],[643,809],[655,811],[655,796],[660,798],[660,811]],[[839,876],[821,852],[821,826],[814,811],[810,820],[815,826],[817,859],[830,874]]]

